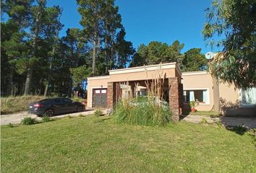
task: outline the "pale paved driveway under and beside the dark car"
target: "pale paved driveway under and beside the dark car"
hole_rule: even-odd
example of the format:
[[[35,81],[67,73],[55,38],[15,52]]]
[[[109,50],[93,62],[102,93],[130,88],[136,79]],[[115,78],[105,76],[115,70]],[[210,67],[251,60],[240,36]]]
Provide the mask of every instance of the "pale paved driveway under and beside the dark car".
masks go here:
[[[55,115],[51,118],[61,118],[61,117],[66,117],[67,115],[70,116],[79,116],[79,115],[92,115],[94,112],[94,110],[85,110],[84,112],[76,112],[76,113],[69,113],[69,114],[64,114],[64,115]],[[102,112],[105,114],[106,110],[102,110]],[[8,115],[1,115],[1,125],[7,125],[9,123],[12,124],[19,124],[22,120],[23,117],[35,117],[36,120],[41,120],[42,117],[38,117],[37,115],[31,115],[28,114],[27,111],[23,111],[23,112],[17,112],[14,114],[8,114]]]

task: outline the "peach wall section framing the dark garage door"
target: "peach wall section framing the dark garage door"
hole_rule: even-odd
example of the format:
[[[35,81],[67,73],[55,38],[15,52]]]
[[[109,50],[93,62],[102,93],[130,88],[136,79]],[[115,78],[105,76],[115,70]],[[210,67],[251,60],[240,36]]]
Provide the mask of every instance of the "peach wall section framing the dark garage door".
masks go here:
[[[87,107],[92,107],[93,89],[108,88],[109,76],[98,76],[88,78]],[[108,94],[108,92],[107,92]]]

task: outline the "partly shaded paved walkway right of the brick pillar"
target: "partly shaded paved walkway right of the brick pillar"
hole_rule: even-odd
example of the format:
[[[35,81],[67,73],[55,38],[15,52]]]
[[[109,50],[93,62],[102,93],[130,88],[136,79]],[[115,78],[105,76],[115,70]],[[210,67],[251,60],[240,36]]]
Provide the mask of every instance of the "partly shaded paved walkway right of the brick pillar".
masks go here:
[[[202,118],[207,120],[208,123],[215,123],[216,121],[221,121],[224,126],[236,126],[243,124],[247,128],[256,128],[256,117],[211,117],[203,115],[187,115],[184,117],[184,121],[191,123],[202,123]]]

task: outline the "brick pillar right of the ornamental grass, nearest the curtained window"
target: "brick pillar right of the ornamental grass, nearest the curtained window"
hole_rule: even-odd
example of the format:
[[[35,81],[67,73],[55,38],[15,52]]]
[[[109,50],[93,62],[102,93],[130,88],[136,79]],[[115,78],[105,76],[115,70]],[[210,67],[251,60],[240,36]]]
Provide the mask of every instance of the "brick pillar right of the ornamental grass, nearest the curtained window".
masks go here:
[[[183,88],[180,85],[179,78],[169,78],[168,79],[168,86],[169,86],[169,106],[172,112],[172,118],[174,121],[179,121],[179,115],[181,113],[180,108],[182,108],[181,102],[182,97],[180,97]]]

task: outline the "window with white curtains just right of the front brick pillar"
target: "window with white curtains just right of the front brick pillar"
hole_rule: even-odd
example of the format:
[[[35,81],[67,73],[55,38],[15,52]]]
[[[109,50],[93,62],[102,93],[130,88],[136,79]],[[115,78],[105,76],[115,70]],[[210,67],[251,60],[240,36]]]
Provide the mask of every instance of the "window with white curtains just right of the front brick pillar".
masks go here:
[[[184,101],[187,103],[195,101],[202,104],[209,104],[208,89],[185,90]]]

